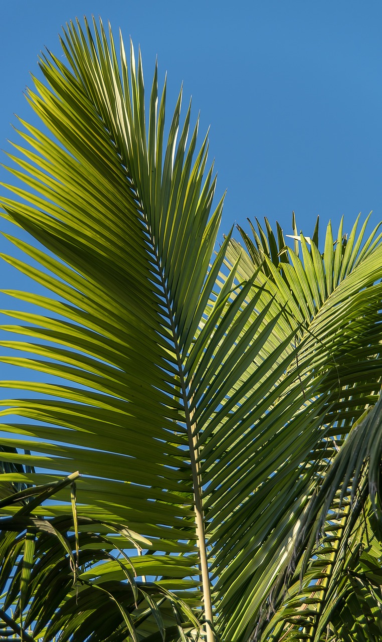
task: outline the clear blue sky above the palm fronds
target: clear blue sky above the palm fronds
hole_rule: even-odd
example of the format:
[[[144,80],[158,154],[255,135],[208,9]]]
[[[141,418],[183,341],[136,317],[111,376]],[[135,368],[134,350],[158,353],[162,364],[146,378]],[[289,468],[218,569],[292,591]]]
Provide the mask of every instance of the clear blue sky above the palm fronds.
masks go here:
[[[92,13],[141,45],[147,85],[158,55],[169,103],[183,80],[202,132],[211,124],[222,231],[266,215],[289,233],[292,209],[306,234],[317,214],[382,219],[380,1],[3,1],[1,148],[13,112],[30,119],[40,49],[60,54],[61,24]]]

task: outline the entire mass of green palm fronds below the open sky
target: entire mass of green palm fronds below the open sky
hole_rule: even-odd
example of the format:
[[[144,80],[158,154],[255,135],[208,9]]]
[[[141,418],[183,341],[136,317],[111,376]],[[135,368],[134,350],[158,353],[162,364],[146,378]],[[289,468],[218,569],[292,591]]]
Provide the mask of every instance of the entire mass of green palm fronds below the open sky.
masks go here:
[[[46,289],[3,290],[1,361],[37,372],[1,383],[28,391],[1,402],[4,631],[382,640],[382,235],[219,247],[182,92],[166,128],[132,46],[85,21],[62,48],[1,198],[31,238],[3,261]]]

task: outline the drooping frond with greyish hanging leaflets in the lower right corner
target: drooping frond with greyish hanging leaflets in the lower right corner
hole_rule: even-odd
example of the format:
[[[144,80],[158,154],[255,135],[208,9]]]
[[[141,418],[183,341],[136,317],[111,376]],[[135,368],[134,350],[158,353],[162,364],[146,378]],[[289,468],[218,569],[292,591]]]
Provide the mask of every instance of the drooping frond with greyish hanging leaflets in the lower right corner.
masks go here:
[[[365,415],[311,499],[297,535],[306,538],[304,557],[287,592],[279,578],[277,609],[261,639],[379,639],[381,504],[372,464],[381,459],[381,399]]]

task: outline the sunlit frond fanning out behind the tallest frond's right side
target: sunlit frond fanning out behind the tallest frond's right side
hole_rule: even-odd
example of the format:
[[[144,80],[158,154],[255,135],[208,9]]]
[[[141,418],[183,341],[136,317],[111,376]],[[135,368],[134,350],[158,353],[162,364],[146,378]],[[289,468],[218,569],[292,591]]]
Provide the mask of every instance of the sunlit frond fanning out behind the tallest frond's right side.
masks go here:
[[[254,524],[248,533],[248,543],[253,542],[253,558],[265,562],[264,566],[259,567],[260,572],[256,569],[257,575],[254,571],[252,583],[248,587],[248,602],[244,607],[248,610],[252,605],[256,614],[254,639],[261,634],[266,617],[269,618],[276,603],[285,595],[285,583],[288,586],[292,581],[294,569],[308,545],[309,528],[313,528],[313,542],[309,548],[311,552],[323,523],[320,520],[324,519],[317,519],[322,503],[318,503],[316,495],[321,485],[326,483],[336,452],[340,449],[341,453],[347,433],[354,422],[360,419],[365,408],[372,407],[378,399],[381,372],[378,324],[381,250],[380,237],[373,240],[376,230],[366,241],[362,240],[365,227],[366,223],[358,238],[356,226],[354,227],[349,245],[346,242],[340,243],[340,228],[340,240],[335,247],[331,241],[329,225],[323,254],[320,254],[318,243],[313,239],[309,239],[309,250],[306,239],[301,235],[297,244],[300,242],[302,247],[304,263],[297,256],[297,251],[288,248],[291,257],[289,262],[280,229],[278,245],[273,235],[270,235],[270,241],[266,245],[266,234],[261,228],[257,246],[243,234],[250,256],[243,253],[236,242],[230,242],[227,256],[231,263],[240,256],[238,272],[243,279],[250,279],[259,265],[264,266],[257,272],[257,286],[264,287],[266,284],[257,307],[265,309],[271,300],[273,306],[284,306],[280,333],[286,333],[288,325],[296,329],[293,341],[285,350],[290,354],[297,351],[292,369],[303,392],[300,407],[296,408],[297,416],[301,408],[306,409],[303,421],[300,422],[300,433],[293,433],[296,417],[293,417],[292,411],[284,424],[273,423],[272,435],[268,433],[268,438],[264,438],[261,428],[262,424],[266,426],[269,421],[268,411],[268,414],[258,420],[257,426],[255,424],[256,432],[252,431],[251,435],[254,440],[261,440],[257,458],[252,455],[254,470],[257,468],[258,471],[263,460],[266,460],[267,451],[270,453],[268,469],[263,467],[265,473],[262,485],[257,488],[254,484]],[[319,274],[321,279],[317,278]],[[270,318],[273,317],[274,312],[271,311]],[[273,335],[273,342],[274,345],[281,345],[277,334]],[[288,370],[282,372],[281,381],[288,378],[289,374]],[[291,397],[298,398],[293,394]],[[272,408],[275,415],[281,402],[282,397],[279,397],[276,409]],[[308,413],[310,408],[313,408],[311,415]],[[315,408],[319,409],[320,415],[314,413]],[[256,440],[254,443],[256,444]],[[303,446],[308,447],[302,456]],[[348,452],[351,453],[349,457],[354,460],[354,451]],[[279,466],[275,453],[280,453]],[[293,455],[296,455],[295,466],[290,465]],[[375,457],[378,460],[378,455],[373,456]],[[357,460],[358,467],[352,469],[357,480],[366,460],[364,452],[363,457]],[[283,469],[288,471],[288,476],[283,473]],[[334,481],[334,487],[329,492],[330,499],[326,500],[326,510],[329,510],[334,499],[333,493],[337,492],[342,483],[342,478]],[[349,501],[353,501],[355,492],[354,482]],[[290,512],[287,512],[287,507],[291,507]],[[283,524],[285,539],[280,536]],[[264,555],[264,550],[268,547],[269,553],[267,550]],[[243,554],[243,576],[245,569],[248,573],[251,568],[250,564],[250,559]],[[243,584],[240,587],[238,582],[238,591],[242,587]],[[263,611],[264,617],[261,615],[261,602],[267,595],[268,606]],[[240,617],[238,620],[240,621]]]

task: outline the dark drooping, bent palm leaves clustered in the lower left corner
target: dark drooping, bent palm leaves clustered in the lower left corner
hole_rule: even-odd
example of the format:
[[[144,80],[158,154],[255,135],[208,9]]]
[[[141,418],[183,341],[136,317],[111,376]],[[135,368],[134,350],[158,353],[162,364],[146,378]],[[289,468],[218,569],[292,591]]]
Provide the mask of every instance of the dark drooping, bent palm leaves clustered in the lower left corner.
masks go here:
[[[34,516],[76,478],[78,473],[1,501],[3,511],[17,507],[13,516],[0,519],[3,635],[18,634],[28,642],[55,641],[57,635],[73,641],[129,636],[137,642],[158,629],[161,639],[186,638],[192,630],[197,635],[189,605],[153,582],[136,580],[141,569],[119,548],[149,542],[121,527],[117,537],[110,536],[110,525],[78,519],[75,509],[72,517]],[[110,564],[124,580],[112,577]]]

